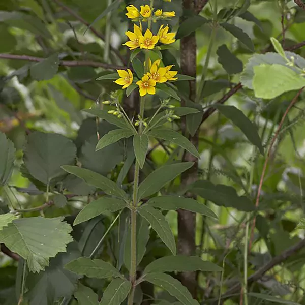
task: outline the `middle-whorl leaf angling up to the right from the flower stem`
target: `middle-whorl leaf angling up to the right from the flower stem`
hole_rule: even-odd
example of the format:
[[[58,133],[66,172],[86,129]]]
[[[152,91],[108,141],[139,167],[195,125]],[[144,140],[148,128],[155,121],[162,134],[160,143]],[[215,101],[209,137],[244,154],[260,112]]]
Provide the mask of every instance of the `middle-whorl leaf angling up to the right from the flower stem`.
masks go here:
[[[164,165],[153,171],[140,184],[138,189],[138,200],[158,192],[167,182],[170,182],[182,172],[193,166],[193,162],[183,162]]]

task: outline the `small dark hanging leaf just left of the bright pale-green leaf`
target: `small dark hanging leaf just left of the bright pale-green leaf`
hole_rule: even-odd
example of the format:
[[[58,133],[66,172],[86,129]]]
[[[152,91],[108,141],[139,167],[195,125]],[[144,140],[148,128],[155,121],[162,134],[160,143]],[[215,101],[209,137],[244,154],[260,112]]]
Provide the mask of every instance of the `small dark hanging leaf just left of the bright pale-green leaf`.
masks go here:
[[[223,44],[217,49],[218,62],[223,66],[228,74],[242,72],[242,62],[231,53],[228,47]]]

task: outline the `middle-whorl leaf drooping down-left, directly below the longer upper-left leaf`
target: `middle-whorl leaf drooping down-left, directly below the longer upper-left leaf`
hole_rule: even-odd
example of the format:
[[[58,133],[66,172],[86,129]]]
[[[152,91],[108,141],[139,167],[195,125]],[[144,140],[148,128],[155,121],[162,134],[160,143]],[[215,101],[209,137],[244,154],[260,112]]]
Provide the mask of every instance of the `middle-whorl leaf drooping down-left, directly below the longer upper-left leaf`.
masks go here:
[[[77,215],[74,226],[103,214],[106,211],[115,212],[126,207],[126,202],[117,198],[102,197],[90,202]]]

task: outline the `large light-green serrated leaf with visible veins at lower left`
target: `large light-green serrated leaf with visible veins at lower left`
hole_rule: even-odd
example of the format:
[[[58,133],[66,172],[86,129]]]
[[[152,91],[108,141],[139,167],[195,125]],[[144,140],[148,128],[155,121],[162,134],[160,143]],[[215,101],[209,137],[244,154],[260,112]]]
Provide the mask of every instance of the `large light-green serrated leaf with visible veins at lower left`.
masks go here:
[[[66,251],[73,241],[71,231],[62,218],[22,218],[0,231],[0,242],[24,258],[30,271],[39,272],[49,265],[49,258]]]

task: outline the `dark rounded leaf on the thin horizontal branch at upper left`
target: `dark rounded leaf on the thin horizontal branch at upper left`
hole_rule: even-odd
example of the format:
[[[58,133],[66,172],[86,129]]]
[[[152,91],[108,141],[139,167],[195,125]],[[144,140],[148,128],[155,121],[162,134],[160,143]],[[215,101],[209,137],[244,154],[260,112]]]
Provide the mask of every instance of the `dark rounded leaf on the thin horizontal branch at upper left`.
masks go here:
[[[36,63],[29,68],[31,76],[35,80],[52,79],[58,71],[59,58],[57,54],[53,54],[42,62]]]

